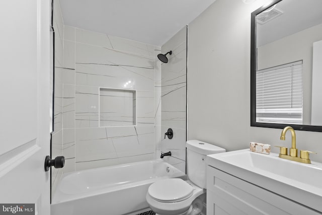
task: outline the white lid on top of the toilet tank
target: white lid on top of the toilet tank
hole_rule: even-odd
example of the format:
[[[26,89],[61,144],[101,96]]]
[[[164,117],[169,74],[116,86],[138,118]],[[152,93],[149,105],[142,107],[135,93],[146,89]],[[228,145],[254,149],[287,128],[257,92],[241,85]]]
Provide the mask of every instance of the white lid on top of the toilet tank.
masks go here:
[[[215,145],[208,144],[207,142],[203,142],[196,139],[188,140],[186,147],[187,149],[202,155],[210,155],[210,154],[226,152],[226,150],[221,147],[217,147]]]

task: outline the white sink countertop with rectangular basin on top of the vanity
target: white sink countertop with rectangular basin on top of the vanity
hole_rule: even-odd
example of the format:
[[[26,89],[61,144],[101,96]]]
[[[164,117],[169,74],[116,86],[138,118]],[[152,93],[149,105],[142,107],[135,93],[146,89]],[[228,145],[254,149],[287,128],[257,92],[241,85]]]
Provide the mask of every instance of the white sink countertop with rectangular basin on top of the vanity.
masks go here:
[[[322,211],[322,164],[302,164],[249,149],[207,156],[207,165]]]

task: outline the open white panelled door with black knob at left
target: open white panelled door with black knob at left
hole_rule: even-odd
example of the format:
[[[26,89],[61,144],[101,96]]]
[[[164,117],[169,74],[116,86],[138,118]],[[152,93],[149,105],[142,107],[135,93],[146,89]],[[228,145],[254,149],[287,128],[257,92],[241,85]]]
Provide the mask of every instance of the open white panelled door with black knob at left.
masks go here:
[[[50,214],[49,26],[49,0],[0,1],[0,204],[35,203],[40,215]]]

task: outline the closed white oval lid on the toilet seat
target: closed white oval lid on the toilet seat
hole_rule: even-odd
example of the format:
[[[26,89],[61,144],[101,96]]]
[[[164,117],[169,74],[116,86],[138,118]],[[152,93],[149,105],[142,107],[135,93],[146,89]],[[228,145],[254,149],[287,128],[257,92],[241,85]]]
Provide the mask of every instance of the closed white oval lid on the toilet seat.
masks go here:
[[[169,178],[154,182],[147,192],[157,201],[177,202],[192,196],[193,187],[180,178]]]

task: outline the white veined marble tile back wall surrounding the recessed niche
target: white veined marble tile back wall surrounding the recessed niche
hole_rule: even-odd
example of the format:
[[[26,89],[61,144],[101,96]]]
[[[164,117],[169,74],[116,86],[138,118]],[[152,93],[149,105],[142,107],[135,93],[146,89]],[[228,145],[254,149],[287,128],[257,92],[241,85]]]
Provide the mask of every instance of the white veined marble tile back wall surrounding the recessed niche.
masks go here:
[[[63,30],[63,172],[153,159],[155,135],[160,135],[155,125],[161,124],[160,64],[155,62],[160,47],[71,26]],[[135,126],[100,126],[106,117],[100,113],[100,88],[135,91]],[[128,121],[121,115],[105,120]]]

